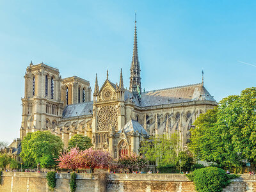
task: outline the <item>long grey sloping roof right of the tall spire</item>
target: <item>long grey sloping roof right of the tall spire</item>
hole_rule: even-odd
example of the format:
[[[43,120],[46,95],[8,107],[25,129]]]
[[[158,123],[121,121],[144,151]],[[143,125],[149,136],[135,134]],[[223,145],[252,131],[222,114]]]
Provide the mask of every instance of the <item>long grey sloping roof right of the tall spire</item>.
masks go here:
[[[204,84],[198,83],[141,93],[140,107],[191,102],[194,100],[216,102],[212,95],[205,89]]]

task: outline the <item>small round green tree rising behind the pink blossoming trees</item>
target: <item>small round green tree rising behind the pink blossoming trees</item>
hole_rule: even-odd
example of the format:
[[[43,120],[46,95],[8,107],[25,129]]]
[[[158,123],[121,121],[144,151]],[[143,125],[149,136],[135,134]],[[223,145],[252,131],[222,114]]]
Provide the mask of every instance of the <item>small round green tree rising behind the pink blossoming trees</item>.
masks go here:
[[[92,140],[88,136],[83,136],[81,134],[75,134],[68,141],[68,150],[77,147],[79,150],[85,150],[92,147]]]

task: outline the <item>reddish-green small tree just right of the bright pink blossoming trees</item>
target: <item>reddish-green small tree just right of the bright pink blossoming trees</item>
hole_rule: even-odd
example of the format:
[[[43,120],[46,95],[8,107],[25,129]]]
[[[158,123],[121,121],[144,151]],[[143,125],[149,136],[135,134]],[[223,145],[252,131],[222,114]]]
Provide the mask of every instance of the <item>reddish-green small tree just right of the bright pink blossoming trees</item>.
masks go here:
[[[141,169],[147,164],[147,160],[136,153],[122,154],[118,159],[120,168],[128,168],[130,173],[133,169]]]

